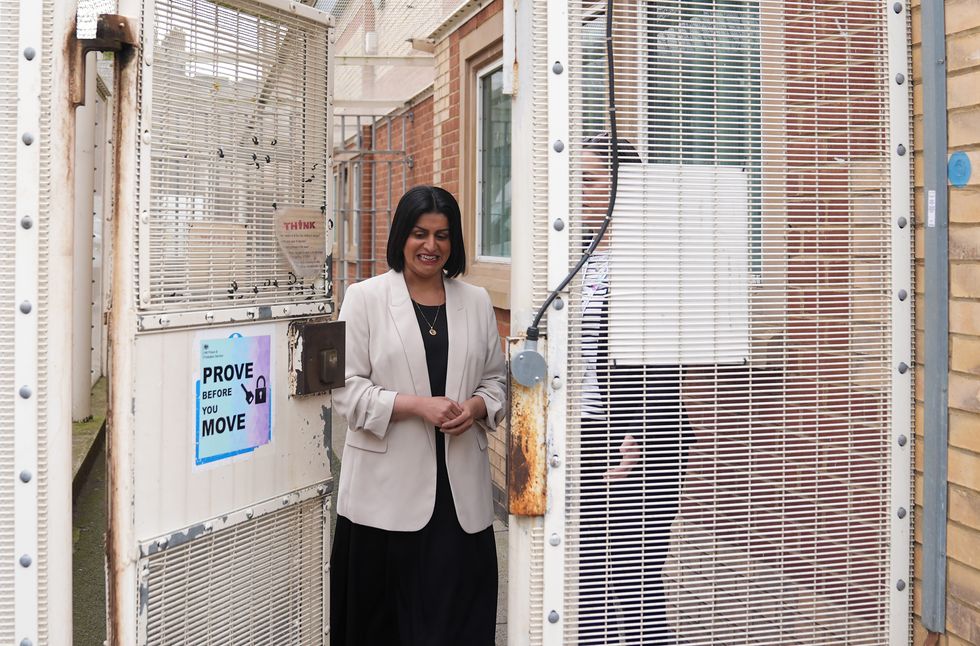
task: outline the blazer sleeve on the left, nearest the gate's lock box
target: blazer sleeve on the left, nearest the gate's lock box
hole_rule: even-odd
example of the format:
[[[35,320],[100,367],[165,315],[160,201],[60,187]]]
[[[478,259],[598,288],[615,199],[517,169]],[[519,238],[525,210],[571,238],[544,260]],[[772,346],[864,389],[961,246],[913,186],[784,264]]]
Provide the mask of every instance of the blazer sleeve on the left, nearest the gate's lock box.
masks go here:
[[[371,326],[361,291],[358,285],[348,288],[337,317],[347,322],[344,326],[346,366],[344,387],[333,391],[333,405],[352,430],[364,430],[384,438],[398,393],[371,381]]]

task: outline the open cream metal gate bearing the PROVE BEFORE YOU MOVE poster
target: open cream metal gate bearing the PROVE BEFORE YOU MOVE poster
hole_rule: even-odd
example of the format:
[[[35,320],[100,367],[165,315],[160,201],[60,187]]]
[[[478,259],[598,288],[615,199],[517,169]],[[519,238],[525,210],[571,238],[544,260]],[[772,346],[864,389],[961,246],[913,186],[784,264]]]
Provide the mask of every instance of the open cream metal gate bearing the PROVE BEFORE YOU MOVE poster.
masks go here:
[[[331,19],[119,12],[111,642],[325,643]]]

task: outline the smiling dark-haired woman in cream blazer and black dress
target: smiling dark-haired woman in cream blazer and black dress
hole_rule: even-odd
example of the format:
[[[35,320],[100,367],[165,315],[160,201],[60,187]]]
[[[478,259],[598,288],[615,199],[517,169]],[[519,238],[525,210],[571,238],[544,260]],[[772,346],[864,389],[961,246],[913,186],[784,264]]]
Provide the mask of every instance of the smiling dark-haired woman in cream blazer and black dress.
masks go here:
[[[347,419],[331,555],[333,646],[492,645],[497,614],[486,431],[503,417],[490,297],[466,268],[459,205],[398,202],[390,271],[348,288]]]

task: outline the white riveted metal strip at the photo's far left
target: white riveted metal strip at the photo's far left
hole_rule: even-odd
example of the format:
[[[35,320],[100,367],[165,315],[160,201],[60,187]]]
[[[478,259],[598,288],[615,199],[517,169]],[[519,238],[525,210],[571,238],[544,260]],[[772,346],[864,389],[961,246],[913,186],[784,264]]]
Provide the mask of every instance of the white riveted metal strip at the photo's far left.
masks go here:
[[[17,558],[31,559],[27,567],[16,567],[14,589],[14,627],[16,639],[38,639],[38,281],[40,245],[38,220],[41,214],[39,183],[41,171],[41,69],[45,56],[42,16],[44,4],[36,0],[20,2],[20,41],[17,73],[17,219],[6,226],[17,227],[15,285],[18,307],[14,324],[14,383],[19,393],[9,393],[14,404],[14,455],[17,475],[14,481],[14,549]],[[28,60],[24,52],[35,55]],[[29,227],[24,226],[30,222]],[[30,309],[24,312],[20,304]],[[27,306],[24,306],[26,309]],[[27,394],[25,397],[24,394]],[[25,561],[26,562],[26,561]]]

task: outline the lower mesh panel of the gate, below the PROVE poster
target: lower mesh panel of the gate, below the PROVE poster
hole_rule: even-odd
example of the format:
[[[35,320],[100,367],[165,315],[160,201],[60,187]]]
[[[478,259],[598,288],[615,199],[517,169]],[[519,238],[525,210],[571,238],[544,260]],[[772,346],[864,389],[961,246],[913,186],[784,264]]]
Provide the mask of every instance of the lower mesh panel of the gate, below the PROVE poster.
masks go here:
[[[314,497],[143,559],[143,643],[326,643],[326,522]]]

